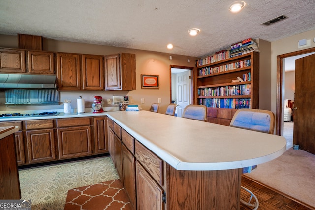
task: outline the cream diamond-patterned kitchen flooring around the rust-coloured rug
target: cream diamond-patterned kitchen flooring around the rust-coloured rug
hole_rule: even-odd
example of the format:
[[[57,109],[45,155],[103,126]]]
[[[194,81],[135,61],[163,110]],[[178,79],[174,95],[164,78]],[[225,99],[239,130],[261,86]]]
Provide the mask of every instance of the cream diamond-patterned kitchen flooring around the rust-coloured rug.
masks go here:
[[[32,210],[63,210],[69,189],[118,179],[110,157],[19,170],[22,199]]]

